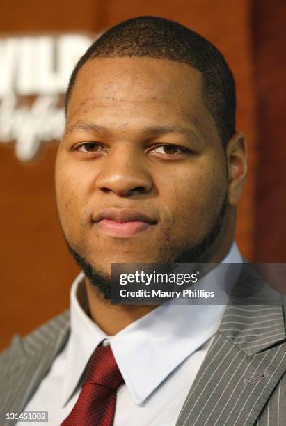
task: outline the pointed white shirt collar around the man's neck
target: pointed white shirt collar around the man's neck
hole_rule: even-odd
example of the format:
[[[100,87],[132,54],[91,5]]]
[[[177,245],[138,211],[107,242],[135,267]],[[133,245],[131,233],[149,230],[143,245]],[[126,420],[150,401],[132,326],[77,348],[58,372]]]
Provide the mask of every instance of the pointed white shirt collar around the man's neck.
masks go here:
[[[232,244],[224,263],[243,260]],[[90,319],[84,273],[77,276],[70,292],[71,333],[67,347],[67,370],[63,388],[65,404],[102,340],[109,339],[125,384],[136,404],[143,404],[168,375],[216,333],[225,305],[176,305],[172,301],[152,310],[115,336],[106,334]],[[213,286],[214,272],[205,278]]]

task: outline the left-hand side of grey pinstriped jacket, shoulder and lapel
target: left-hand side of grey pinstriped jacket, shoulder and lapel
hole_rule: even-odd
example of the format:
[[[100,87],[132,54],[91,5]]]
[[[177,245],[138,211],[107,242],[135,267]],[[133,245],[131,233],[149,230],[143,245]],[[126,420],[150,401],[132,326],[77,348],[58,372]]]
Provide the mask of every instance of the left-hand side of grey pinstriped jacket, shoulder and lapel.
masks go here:
[[[33,395],[40,381],[51,368],[58,352],[63,349],[69,335],[68,311],[20,339],[3,359],[1,368],[0,412],[20,412]],[[1,361],[0,361],[1,366]],[[11,423],[9,423],[11,425]]]

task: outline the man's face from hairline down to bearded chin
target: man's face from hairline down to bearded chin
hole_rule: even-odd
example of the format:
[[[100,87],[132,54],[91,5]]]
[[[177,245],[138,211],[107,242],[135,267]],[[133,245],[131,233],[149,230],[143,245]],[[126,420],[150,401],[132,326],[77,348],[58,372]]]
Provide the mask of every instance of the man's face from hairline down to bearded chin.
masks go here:
[[[81,68],[56,196],[67,242],[93,268],[109,274],[111,262],[177,260],[211,232],[226,192],[198,70],[154,58],[96,58]],[[150,223],[130,218],[133,210]]]

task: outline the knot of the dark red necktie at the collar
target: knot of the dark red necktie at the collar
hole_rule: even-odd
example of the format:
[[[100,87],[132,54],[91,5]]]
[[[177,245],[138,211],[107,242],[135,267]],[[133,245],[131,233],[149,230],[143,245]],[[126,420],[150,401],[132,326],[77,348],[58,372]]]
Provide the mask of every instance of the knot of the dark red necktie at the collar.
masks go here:
[[[87,383],[100,384],[113,390],[117,390],[123,383],[123,378],[113,356],[110,345],[98,346],[93,352],[88,363],[86,379]]]

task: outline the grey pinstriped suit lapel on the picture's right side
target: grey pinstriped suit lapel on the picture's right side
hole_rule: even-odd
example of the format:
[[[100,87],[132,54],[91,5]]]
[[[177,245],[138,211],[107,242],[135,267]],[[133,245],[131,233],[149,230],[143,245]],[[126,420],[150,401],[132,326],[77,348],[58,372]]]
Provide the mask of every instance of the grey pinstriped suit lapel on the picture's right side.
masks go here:
[[[228,305],[176,426],[253,425],[286,370],[285,337],[281,304]]]

